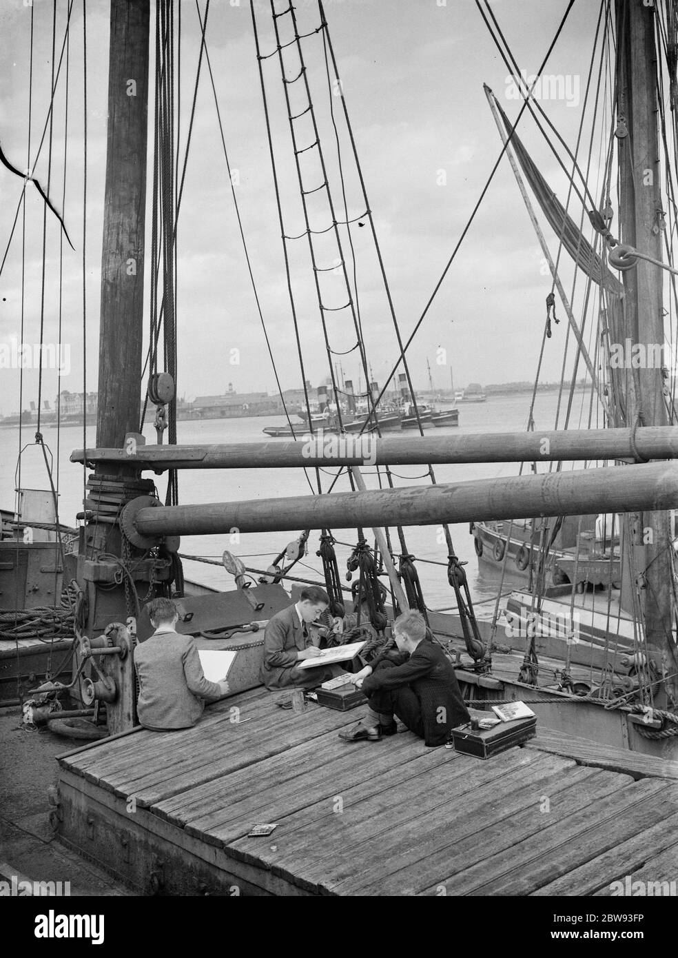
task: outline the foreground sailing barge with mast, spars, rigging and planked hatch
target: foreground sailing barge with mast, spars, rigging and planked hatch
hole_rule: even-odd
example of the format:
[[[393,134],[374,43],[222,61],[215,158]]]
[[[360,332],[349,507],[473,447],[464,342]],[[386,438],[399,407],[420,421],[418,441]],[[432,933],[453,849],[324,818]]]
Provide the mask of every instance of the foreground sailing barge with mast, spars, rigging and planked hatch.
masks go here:
[[[636,130],[631,147],[642,151],[642,139],[656,145],[656,126],[653,130],[647,122],[656,77],[646,65],[655,52],[657,13],[642,0],[619,0],[613,24],[609,5],[601,5],[600,11],[607,36],[614,33],[619,42],[618,112],[623,106],[624,128],[635,126]],[[319,280],[328,267],[317,258],[307,208],[308,195],[316,190],[311,190],[300,161],[308,149],[317,152],[323,174],[318,191],[331,217],[329,232],[339,253],[338,268],[349,296],[347,308],[362,372],[365,381],[372,382],[352,296],[346,242],[338,228],[341,223],[350,230],[350,217],[344,211],[346,217],[341,220],[340,208],[332,199],[305,70],[302,41],[316,34],[324,44],[328,71],[331,68],[339,80],[322,4],[317,12],[318,24],[305,34],[292,5],[272,2],[274,55],[281,68],[328,353],[328,307]],[[73,678],[67,684],[46,676],[48,680],[34,690],[33,703],[34,718],[45,719],[57,699],[70,690],[81,706],[73,711],[92,716],[100,725],[105,716],[108,737],[60,757],[59,787],[51,796],[56,833],[81,854],[105,861],[146,894],[612,894],[610,889],[622,872],[671,878],[676,862],[672,825],[678,824],[678,786],[674,784],[678,777],[678,657],[667,511],[678,501],[678,468],[667,460],[676,456],[678,427],[672,414],[667,417],[661,373],[644,371],[639,382],[629,377],[628,382],[616,383],[620,389],[626,387],[620,407],[623,415],[608,416],[605,425],[610,428],[604,431],[556,430],[547,437],[547,445],[543,434],[533,429],[497,437],[424,437],[406,344],[389,294],[399,350],[394,373],[402,364],[401,376],[413,401],[420,436],[382,439],[381,396],[370,390],[365,399],[377,435],[358,432],[356,437],[373,444],[371,465],[382,470],[379,476],[388,488],[367,488],[362,469],[368,450],[359,443],[352,445],[350,454],[338,455],[328,455],[325,449],[309,454],[294,442],[275,448],[267,443],[177,445],[173,258],[180,190],[172,179],[176,145],[170,122],[171,0],[158,0],[155,17],[153,324],[143,414],[139,401],[144,316],[144,256],[139,254],[145,249],[146,235],[149,13],[148,0],[111,2],[100,415],[96,448],[81,448],[72,456],[74,462],[93,470],[77,542],[66,550],[59,541],[55,550],[64,580],[75,583],[77,593]],[[674,40],[670,4],[667,17]],[[265,57],[254,4],[252,20],[261,71]],[[206,30],[207,9],[201,17],[201,62],[203,54],[209,62]],[[638,50],[644,51],[644,57],[637,57]],[[296,57],[294,63],[291,57]],[[133,97],[127,93],[129,77],[136,78]],[[262,73],[260,78],[265,107]],[[301,90],[301,103],[292,102],[293,84],[298,84],[295,96]],[[530,95],[530,90],[525,91],[527,101]],[[348,109],[340,100],[354,152]],[[124,123],[116,122],[121,115]],[[308,142],[300,139],[296,125],[302,116],[310,124]],[[513,129],[501,155],[507,151]],[[272,147],[271,160],[275,175]],[[661,265],[655,261],[662,251],[652,230],[657,196],[640,196],[631,189],[641,162],[633,155],[630,163],[625,156],[622,162],[622,222],[627,231],[623,248],[606,225],[609,217],[600,220],[601,226],[593,218],[599,236],[616,251],[616,262],[631,267],[624,272],[625,315],[637,337],[650,342],[659,335],[661,310],[647,310],[651,316],[645,316],[639,303],[644,297],[661,302]],[[373,235],[388,290],[361,172],[359,181],[366,210],[363,219]],[[643,203],[647,209],[641,209]],[[280,204],[279,213],[284,244],[288,238]],[[649,262],[642,255],[648,249],[653,251]],[[132,254],[135,269],[130,272],[126,265]],[[599,271],[597,256],[592,254],[589,262],[594,272]],[[291,306],[294,311],[293,301]],[[165,370],[158,347],[161,316]],[[570,310],[568,321],[585,354]],[[593,368],[591,372],[609,413],[606,394]],[[342,397],[335,378],[332,394],[342,429]],[[147,405],[156,410],[157,445],[147,444],[140,428]],[[312,422],[307,397],[306,417],[306,422]],[[164,443],[166,427],[169,442]],[[610,461],[626,465],[541,474],[534,469],[530,476],[447,484],[437,483],[433,471],[437,463],[597,461],[603,458],[603,448]],[[397,488],[390,468],[400,464],[427,466],[432,485]],[[350,491],[179,504],[179,470],[238,465],[339,468],[350,477]],[[144,473],[166,471],[168,496],[162,503],[152,479]],[[599,628],[593,610],[583,636],[573,636],[571,629],[562,635],[548,629],[545,633],[528,630],[511,636],[503,648],[497,641],[496,618],[492,624],[476,619],[450,523],[592,513],[632,516],[629,542],[644,577],[635,583],[634,627],[629,634],[611,630],[608,615],[606,627]],[[347,517],[358,530],[350,568],[360,576],[350,598],[338,581],[331,548],[331,531],[345,528]],[[58,528],[56,510],[54,520]],[[418,588],[415,557],[407,549],[405,534],[408,527],[424,524],[438,525],[443,533],[448,580],[457,604],[454,615],[431,612]],[[652,530],[651,537],[644,537],[646,528]],[[374,547],[365,535],[370,529]],[[397,531],[400,541],[398,569],[387,535],[390,529]],[[258,584],[248,581],[244,568],[231,561],[237,588],[212,595],[195,590],[202,594],[191,595],[190,583],[183,582],[178,537],[228,535],[234,530],[238,534],[303,533]],[[342,613],[350,613],[370,593],[373,601],[363,609],[364,621],[369,620],[373,631],[387,641],[388,626],[397,611],[420,607],[433,636],[455,661],[466,699],[481,706],[527,699],[537,715],[537,737],[486,763],[452,749],[422,749],[409,733],[395,736],[378,753],[356,752],[347,750],[336,737],[353,720],[350,713],[310,706],[301,716],[283,714],[258,685],[260,631],[267,618],[291,601],[281,582],[304,555],[312,531],[321,533],[325,584],[339,617],[339,606]],[[8,554],[14,547],[15,542],[9,543]],[[225,563],[228,567],[226,558]],[[383,595],[376,588],[380,572],[388,578]],[[366,589],[366,583],[374,590]],[[570,598],[572,593],[571,588]],[[195,635],[199,647],[237,651],[234,694],[210,707],[194,729],[171,736],[136,724],[131,651],[149,633],[142,605],[154,595],[176,599],[180,630]],[[545,601],[545,595],[535,590],[525,610],[541,614]],[[544,675],[553,675],[554,680],[549,677],[545,683]],[[544,795],[549,797],[551,813],[546,827],[539,810]],[[464,807],[471,810],[461,811]],[[421,808],[426,810],[423,818]],[[276,824],[277,830],[268,836],[250,836],[253,826],[264,820]],[[385,851],[389,854],[384,855]]]

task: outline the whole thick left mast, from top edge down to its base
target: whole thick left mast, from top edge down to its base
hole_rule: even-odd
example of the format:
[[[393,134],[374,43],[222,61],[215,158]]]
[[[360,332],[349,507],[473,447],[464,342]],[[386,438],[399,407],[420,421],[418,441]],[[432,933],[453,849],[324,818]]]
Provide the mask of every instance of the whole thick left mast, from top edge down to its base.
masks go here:
[[[139,431],[149,20],[149,0],[111,0],[98,445],[122,446],[126,433]],[[116,523],[126,501],[151,489],[133,463],[99,463],[88,480],[87,525],[80,537],[77,566],[87,599],[82,631],[88,638],[100,636],[111,623],[128,622],[131,626],[140,608],[138,594],[142,588],[141,594],[145,594],[148,583],[158,581],[152,558],[135,561],[130,569],[131,547]],[[127,648],[126,641],[123,646]],[[114,698],[106,707],[108,732],[114,735],[131,728],[135,721],[132,656],[108,655],[97,668],[100,676],[115,686]],[[94,688],[91,683],[90,688]]]

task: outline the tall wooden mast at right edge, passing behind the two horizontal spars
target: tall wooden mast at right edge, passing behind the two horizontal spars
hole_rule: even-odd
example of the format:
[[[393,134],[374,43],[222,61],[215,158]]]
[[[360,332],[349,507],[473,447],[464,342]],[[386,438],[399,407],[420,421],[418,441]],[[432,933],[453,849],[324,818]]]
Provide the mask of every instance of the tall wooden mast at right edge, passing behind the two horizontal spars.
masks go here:
[[[621,241],[655,259],[662,256],[662,200],[657,125],[657,49],[653,4],[617,0],[618,121]],[[663,271],[639,260],[623,272],[625,336],[644,345],[644,355],[663,354]],[[661,368],[631,370],[626,379],[627,426],[667,424]],[[676,673],[672,640],[671,563],[667,513],[630,516],[634,572],[640,576],[645,637],[665,674]],[[655,696],[660,707],[678,702],[678,681]]]

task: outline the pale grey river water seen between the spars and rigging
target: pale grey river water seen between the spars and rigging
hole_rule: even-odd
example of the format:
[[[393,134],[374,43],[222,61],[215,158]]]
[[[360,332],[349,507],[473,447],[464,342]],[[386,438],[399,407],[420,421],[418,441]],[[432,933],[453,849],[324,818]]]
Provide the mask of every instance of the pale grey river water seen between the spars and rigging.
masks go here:
[[[459,407],[459,427],[428,429],[426,435],[520,432],[527,425],[530,399],[529,394],[521,393],[488,397],[485,403],[462,403]],[[539,394],[534,410],[535,428],[537,430],[554,428],[556,406],[556,392]],[[577,392],[573,404],[571,427],[585,428],[587,411],[587,395],[584,392]],[[561,427],[562,416],[561,412]],[[282,425],[284,422],[282,416],[178,422],[177,439],[179,444],[191,445],[257,442],[265,438],[261,431],[264,426]],[[144,431],[147,442],[154,443],[155,431],[152,425],[147,425]],[[42,433],[45,444],[49,446],[54,456],[53,474],[59,493],[60,521],[66,525],[75,526],[75,515],[82,509],[83,470],[81,466],[71,463],[69,456],[73,449],[82,447],[82,427],[62,427],[60,436],[57,436],[56,428],[43,427]],[[410,433],[410,435],[412,434]],[[416,435],[416,433],[414,434]],[[25,448],[21,454],[21,485],[25,489],[49,489],[49,479],[44,459],[39,447],[34,445],[33,438],[34,434],[31,427],[24,426],[22,441]],[[272,442],[275,442],[275,440]],[[88,427],[87,443],[88,445],[94,444],[93,427]],[[58,457],[56,455],[57,446]],[[18,427],[0,428],[0,508],[3,509],[13,509],[14,507],[18,456]],[[58,465],[56,465],[56,460],[58,460]],[[462,464],[437,466],[435,467],[435,473],[437,481],[441,483],[472,482],[473,480],[493,476],[516,475],[518,468],[519,466],[516,463]],[[328,469],[321,473],[323,489],[328,488],[336,471],[336,469]],[[377,488],[377,480],[373,471],[373,468],[369,467],[364,469],[368,488]],[[429,482],[425,478],[425,467],[397,467],[395,473],[394,483],[396,486],[427,485]],[[308,476],[311,482],[315,482],[314,470],[308,470]],[[158,491],[164,498],[167,480],[164,476],[156,476],[155,479]],[[349,488],[346,476],[342,476],[335,486],[336,491],[346,491]],[[302,469],[187,469],[179,475],[179,499],[180,502],[185,504],[282,497],[309,492],[309,486]],[[350,516],[347,516],[347,519],[350,520]],[[334,529],[332,532],[339,541],[353,544],[355,542],[355,529],[350,528],[350,521],[347,526],[346,529]],[[496,595],[497,581],[479,574],[478,561],[473,548],[473,537],[469,535],[468,523],[452,525],[450,529],[457,555],[460,559],[468,562],[468,582],[474,601],[480,604],[479,613],[482,614],[484,610],[489,612],[491,610],[491,600]],[[299,532],[301,531],[300,529]],[[315,555],[318,548],[318,536],[318,533],[311,533],[308,539],[308,554],[301,562],[297,563],[292,574],[303,578],[317,578],[317,574],[321,570],[320,559],[317,559]],[[239,541],[231,541],[231,536],[228,535],[183,536],[180,551],[191,556],[220,559],[224,549],[228,549],[241,557],[245,565],[261,569],[275,559],[282,552],[286,543],[294,537],[295,534],[289,532],[242,534],[239,536]],[[407,527],[405,537],[408,549],[418,559],[445,562],[446,548],[444,539],[441,539],[440,526]],[[392,530],[392,542],[394,548],[399,549],[395,530]],[[348,546],[337,546],[336,552],[339,560],[339,571],[344,576],[350,548]],[[220,565],[211,566],[185,560],[184,570],[187,579],[204,582],[218,589],[231,588],[233,584],[232,578]],[[448,608],[454,605],[454,594],[447,582],[444,564],[435,565],[420,561],[418,563],[418,573],[424,598],[429,607]]]

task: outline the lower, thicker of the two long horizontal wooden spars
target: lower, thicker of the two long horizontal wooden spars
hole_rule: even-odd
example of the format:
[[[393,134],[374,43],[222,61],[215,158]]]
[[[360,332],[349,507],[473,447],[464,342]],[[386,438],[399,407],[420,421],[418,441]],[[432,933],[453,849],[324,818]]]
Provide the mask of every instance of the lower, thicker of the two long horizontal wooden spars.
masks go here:
[[[125,510],[142,536],[204,536],[622,513],[667,509],[677,500],[678,465],[652,463],[199,506],[136,509],[132,502]]]

